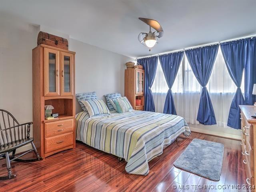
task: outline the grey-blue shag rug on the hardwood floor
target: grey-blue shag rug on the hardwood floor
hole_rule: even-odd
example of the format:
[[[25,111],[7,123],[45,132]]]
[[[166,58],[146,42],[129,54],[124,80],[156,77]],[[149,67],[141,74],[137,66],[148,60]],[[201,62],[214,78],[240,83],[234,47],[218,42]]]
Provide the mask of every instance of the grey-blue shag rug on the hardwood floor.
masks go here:
[[[193,139],[174,162],[174,166],[210,180],[220,180],[224,145],[216,142]]]

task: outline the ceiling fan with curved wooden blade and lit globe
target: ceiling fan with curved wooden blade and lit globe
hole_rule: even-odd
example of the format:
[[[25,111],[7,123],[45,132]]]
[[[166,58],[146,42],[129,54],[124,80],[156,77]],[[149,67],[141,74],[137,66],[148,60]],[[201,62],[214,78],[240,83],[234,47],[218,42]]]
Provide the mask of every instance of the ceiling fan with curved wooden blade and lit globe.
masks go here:
[[[164,35],[163,28],[156,20],[140,18],[140,17],[139,17],[139,20],[149,25],[148,33],[141,32],[139,34],[138,36],[139,42],[148,48],[154,47],[158,38],[161,38]],[[153,28],[156,31],[152,32],[151,28]]]

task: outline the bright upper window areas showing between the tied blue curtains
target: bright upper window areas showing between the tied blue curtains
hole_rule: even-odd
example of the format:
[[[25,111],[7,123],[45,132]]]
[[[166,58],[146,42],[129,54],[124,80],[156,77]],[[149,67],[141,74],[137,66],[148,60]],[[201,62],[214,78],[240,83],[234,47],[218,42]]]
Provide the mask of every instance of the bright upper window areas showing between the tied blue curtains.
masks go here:
[[[182,67],[184,65],[184,68]],[[184,81],[182,76],[182,71],[184,71]],[[235,93],[236,85],[228,74],[222,52],[219,48],[214,67],[212,69],[212,74],[210,76],[209,82],[206,85],[209,93]],[[182,63],[178,70],[178,74],[172,86],[173,93],[182,92],[201,92],[201,86],[198,83],[196,77],[194,76],[186,54],[184,54]],[[156,78],[152,86],[153,93],[167,93],[168,85],[166,83],[162,67],[158,60],[158,66],[156,70]],[[244,92],[244,76],[242,79],[242,92]]]

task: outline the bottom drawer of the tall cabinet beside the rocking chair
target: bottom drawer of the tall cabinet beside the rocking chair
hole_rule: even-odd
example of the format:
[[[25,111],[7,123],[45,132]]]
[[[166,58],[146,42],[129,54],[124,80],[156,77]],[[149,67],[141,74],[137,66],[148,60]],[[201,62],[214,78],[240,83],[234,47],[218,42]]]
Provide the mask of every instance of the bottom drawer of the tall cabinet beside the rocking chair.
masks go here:
[[[61,135],[48,137],[44,139],[44,151],[45,153],[64,148],[72,145],[74,142],[73,133],[64,133]]]

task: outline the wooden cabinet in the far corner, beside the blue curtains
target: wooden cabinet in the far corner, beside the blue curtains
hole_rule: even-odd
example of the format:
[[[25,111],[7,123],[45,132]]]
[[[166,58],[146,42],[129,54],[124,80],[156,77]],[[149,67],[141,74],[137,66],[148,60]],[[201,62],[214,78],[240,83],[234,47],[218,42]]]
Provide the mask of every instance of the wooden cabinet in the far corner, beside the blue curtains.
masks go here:
[[[135,110],[144,110],[144,82],[145,71],[139,68],[127,68],[124,72],[124,96],[126,96]],[[136,100],[141,100],[136,105]]]

